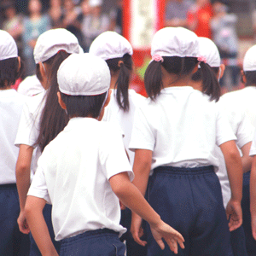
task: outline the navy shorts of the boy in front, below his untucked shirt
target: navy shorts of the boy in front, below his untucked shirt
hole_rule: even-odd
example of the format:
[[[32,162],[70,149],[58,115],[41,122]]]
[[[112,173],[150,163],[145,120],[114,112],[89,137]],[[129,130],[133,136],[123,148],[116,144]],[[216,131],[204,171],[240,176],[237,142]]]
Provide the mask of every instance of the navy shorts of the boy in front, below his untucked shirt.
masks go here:
[[[119,233],[103,229],[86,231],[61,240],[60,256],[124,256],[125,244]]]

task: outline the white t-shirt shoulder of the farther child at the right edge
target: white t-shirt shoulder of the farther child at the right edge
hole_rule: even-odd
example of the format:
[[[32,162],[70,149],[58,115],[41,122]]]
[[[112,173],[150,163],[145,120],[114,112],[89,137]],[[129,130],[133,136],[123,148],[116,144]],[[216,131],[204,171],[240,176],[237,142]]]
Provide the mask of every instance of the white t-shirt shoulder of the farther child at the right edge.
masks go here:
[[[244,89],[231,91],[224,94],[224,99],[230,101],[232,106],[244,109],[248,119],[256,128],[256,87],[247,86]]]

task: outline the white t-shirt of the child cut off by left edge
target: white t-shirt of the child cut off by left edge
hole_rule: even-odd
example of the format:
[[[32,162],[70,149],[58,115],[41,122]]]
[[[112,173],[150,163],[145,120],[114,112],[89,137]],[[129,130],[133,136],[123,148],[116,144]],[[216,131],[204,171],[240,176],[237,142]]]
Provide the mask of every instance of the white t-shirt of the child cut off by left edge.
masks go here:
[[[0,90],[0,184],[16,183],[15,136],[25,100],[16,90]]]

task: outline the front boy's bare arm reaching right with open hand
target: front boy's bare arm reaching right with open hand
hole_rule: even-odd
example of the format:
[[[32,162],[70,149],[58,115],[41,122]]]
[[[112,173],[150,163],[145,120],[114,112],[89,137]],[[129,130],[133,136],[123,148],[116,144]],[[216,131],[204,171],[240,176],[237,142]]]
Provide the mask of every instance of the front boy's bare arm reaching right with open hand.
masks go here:
[[[183,236],[160,219],[160,216],[149,206],[137,187],[130,182],[127,172],[114,175],[109,179],[109,183],[120,201],[123,201],[131,211],[148,221],[154,239],[162,249],[165,247],[162,238],[166,240],[174,253],[177,253],[177,243],[180,247],[184,247]]]

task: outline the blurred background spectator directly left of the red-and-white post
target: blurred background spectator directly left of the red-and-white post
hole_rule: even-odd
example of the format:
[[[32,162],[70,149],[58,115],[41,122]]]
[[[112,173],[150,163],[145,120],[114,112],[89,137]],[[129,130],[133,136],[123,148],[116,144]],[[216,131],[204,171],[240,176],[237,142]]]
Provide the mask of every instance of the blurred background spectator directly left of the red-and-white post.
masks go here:
[[[110,26],[109,30],[123,34],[123,0],[118,0],[115,8],[109,13]]]

